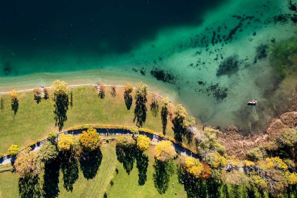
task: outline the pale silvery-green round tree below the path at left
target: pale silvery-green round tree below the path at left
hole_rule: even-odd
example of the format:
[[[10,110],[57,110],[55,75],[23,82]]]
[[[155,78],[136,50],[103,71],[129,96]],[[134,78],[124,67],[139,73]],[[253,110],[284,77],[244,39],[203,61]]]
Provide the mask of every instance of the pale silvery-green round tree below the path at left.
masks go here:
[[[58,156],[57,146],[51,142],[45,142],[38,150],[37,155],[43,163],[51,163]]]

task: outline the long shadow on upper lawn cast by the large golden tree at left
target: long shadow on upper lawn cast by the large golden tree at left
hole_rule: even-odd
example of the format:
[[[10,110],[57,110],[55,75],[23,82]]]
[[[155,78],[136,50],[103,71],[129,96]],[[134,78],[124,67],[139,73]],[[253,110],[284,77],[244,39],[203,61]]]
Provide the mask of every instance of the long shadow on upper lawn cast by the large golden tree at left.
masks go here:
[[[59,131],[62,130],[64,126],[64,122],[67,121],[67,110],[69,106],[69,98],[67,94],[55,94],[53,99],[55,101],[54,107],[54,114],[56,124],[55,126],[59,127]]]

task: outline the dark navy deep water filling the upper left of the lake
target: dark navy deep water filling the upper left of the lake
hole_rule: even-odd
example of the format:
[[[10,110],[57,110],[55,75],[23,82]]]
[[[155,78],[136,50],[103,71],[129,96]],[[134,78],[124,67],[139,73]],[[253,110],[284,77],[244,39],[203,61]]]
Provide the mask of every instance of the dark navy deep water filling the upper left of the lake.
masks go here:
[[[222,1],[2,1],[0,45],[19,51],[127,52],[159,29],[197,26]]]

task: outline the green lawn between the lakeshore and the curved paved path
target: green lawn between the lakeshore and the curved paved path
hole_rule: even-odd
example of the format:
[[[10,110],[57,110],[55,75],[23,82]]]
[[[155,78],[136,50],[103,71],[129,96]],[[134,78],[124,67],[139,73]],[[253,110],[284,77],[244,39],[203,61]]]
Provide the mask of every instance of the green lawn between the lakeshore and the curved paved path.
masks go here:
[[[133,103],[127,110],[124,102],[124,88],[116,87],[116,97],[110,95],[111,88],[105,88],[105,98],[98,97],[96,87],[73,87],[73,108],[67,111],[68,120],[64,122],[63,129],[81,124],[111,124],[135,126],[134,92]],[[70,96],[69,96],[70,97]],[[70,99],[70,98],[69,98]],[[147,117],[143,128],[151,129],[155,133],[162,133],[161,105],[159,99],[159,113],[154,117],[150,111],[151,94],[147,95]],[[19,108],[14,115],[10,106],[8,94],[3,94],[3,111],[0,111],[0,153],[7,153],[11,144],[18,144],[20,148],[37,139],[43,139],[48,132],[58,130],[54,120],[53,90],[49,90],[49,99],[37,104],[33,91],[18,92]],[[172,109],[171,109],[172,111]],[[173,137],[172,124],[168,119],[166,135]]]

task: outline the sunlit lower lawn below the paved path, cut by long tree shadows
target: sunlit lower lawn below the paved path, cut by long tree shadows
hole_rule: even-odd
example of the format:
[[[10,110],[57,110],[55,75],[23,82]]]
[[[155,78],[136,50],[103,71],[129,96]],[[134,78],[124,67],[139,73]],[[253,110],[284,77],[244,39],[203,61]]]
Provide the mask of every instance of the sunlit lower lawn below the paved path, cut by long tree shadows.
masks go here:
[[[126,170],[117,160],[115,141],[110,141],[108,144],[102,144],[100,147],[102,152],[102,161],[98,168],[97,174],[93,179],[86,179],[84,177],[82,166],[78,169],[78,178],[73,183],[73,190],[66,191],[64,188],[64,179],[63,172],[60,169],[58,174],[51,172],[49,174],[50,183],[48,185],[50,188],[57,186],[56,193],[59,194],[58,197],[102,197],[105,187],[107,190],[108,197],[187,197],[186,192],[181,184],[177,184],[176,181],[177,175],[176,172],[172,176],[168,177],[168,189],[161,191],[161,194],[158,193],[157,188],[154,186],[153,174],[155,169],[154,164],[154,147],[150,147],[148,151],[144,154],[148,156],[148,167],[146,172],[142,172],[142,175],[146,175],[147,180],[144,185],[140,186],[138,183],[138,168],[136,166],[137,162],[134,159],[134,165],[131,169],[129,175]],[[116,163],[118,163],[119,173],[118,175],[115,172]],[[143,163],[142,163],[143,164]],[[173,162],[173,169],[176,169],[176,161]],[[0,166],[0,170],[8,169],[11,165]],[[46,183],[44,178],[44,173],[39,175],[39,186],[40,189],[43,188],[42,183]],[[114,185],[110,187],[110,175],[114,175]],[[71,173],[70,173],[71,176]],[[57,180],[55,180],[57,177]],[[66,176],[65,176],[66,177]],[[71,177],[68,177],[71,180]],[[67,181],[69,181],[67,180]],[[73,180],[74,181],[74,180]],[[172,187],[172,183],[175,184],[175,187]],[[35,185],[37,186],[37,185]],[[21,189],[30,189],[32,183],[25,183]],[[54,189],[54,188],[53,188]],[[51,191],[54,192],[54,191]],[[177,193],[177,195],[175,195]],[[0,197],[10,198],[10,197],[20,197],[19,187],[18,187],[18,174],[11,172],[2,172],[0,173]]]

